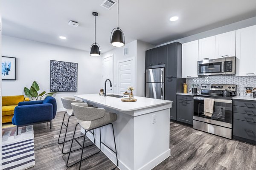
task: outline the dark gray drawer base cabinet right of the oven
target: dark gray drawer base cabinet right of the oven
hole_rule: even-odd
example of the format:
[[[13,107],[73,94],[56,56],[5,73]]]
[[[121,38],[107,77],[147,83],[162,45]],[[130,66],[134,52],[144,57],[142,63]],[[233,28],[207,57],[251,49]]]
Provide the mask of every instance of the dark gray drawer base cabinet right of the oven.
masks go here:
[[[256,102],[233,100],[233,138],[255,144],[256,142]]]

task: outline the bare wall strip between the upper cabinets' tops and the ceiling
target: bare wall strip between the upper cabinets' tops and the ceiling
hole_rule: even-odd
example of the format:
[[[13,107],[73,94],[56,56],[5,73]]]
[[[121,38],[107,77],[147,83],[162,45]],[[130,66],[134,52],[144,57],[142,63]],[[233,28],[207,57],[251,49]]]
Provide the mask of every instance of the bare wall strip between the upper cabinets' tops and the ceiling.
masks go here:
[[[188,36],[188,37],[180,38],[178,40],[166,42],[164,44],[157,45],[156,47],[163,46],[163,45],[166,45],[166,44],[170,44],[170,43],[176,42],[176,41],[183,44],[183,43],[186,43],[186,42],[195,41],[195,40],[199,40],[199,39],[202,39],[202,38],[211,37],[211,36],[214,36],[214,35],[217,35],[217,34],[222,34],[222,33],[225,33],[225,32],[234,31],[234,30],[237,30],[237,29],[245,28],[245,27],[248,27],[248,26],[254,26],[254,25],[256,25],[256,17],[252,17],[252,18],[249,18],[247,20],[241,20],[241,21],[236,22],[236,23],[228,24],[226,26],[222,26],[222,27],[218,27],[218,28],[211,29],[211,30],[208,30],[208,31],[204,31],[204,32],[201,32],[201,33],[198,33],[198,34]]]

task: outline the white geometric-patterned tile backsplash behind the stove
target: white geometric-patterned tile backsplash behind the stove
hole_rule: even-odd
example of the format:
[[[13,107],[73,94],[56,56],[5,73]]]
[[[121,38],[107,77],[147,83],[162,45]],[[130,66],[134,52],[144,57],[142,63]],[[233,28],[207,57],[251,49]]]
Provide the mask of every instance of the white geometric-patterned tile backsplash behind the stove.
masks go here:
[[[200,78],[186,78],[186,83],[188,84],[188,89],[192,88],[192,84],[233,84],[237,85],[237,95],[243,95],[245,91],[244,87],[256,88],[256,76],[207,76]]]

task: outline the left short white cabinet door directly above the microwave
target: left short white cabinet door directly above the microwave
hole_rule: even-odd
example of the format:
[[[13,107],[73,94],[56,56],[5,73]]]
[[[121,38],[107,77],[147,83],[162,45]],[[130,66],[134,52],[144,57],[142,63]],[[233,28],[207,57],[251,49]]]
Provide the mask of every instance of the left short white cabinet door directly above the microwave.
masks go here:
[[[198,60],[215,59],[215,36],[199,40]]]

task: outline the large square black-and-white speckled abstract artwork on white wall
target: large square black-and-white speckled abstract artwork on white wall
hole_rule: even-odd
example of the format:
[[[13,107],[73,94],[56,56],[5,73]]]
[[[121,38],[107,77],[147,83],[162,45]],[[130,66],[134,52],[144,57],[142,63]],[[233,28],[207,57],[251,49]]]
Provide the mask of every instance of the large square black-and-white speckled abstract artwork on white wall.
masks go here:
[[[50,92],[77,91],[77,63],[51,60]]]

